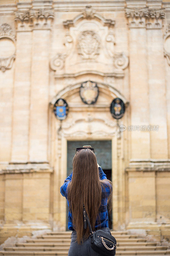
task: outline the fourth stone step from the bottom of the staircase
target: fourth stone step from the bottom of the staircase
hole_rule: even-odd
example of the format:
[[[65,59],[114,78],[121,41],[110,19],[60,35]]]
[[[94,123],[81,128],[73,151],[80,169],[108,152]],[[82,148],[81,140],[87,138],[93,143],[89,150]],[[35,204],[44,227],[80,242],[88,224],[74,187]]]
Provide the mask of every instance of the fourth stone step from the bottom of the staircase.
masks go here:
[[[147,240],[145,239],[145,238],[119,238],[119,239],[117,239],[116,238],[116,241],[117,241],[117,243],[118,242],[147,242]],[[46,238],[46,239],[44,239],[44,238],[35,238],[35,239],[28,239],[28,240],[26,240],[26,242],[27,243],[40,243],[40,242],[42,242],[42,243],[48,243],[48,242],[54,242],[54,243],[56,243],[56,239],[54,239],[54,238]],[[57,242],[71,242],[71,238],[69,239],[69,238],[65,238],[65,237],[63,237],[63,238],[58,238],[57,239]]]

